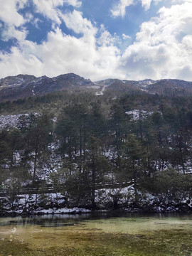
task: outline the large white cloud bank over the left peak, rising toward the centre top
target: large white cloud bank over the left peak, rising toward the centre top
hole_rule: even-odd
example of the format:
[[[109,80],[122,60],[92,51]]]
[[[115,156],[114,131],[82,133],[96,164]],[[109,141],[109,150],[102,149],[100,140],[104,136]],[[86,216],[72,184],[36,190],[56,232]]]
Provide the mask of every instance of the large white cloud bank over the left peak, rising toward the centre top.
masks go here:
[[[70,72],[92,80],[115,77],[120,58],[114,45],[116,39],[104,26],[98,29],[78,11],[64,18],[66,26],[82,33],[80,38],[67,36],[56,28],[40,45],[22,41],[18,48],[11,48],[11,53],[0,54],[1,77],[18,73],[51,77]]]

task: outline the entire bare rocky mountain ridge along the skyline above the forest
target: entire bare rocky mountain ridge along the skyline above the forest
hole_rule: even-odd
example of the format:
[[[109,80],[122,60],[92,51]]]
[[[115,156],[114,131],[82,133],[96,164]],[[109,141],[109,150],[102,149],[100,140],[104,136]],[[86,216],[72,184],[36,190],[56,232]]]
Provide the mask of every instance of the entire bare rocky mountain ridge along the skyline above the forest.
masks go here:
[[[25,97],[42,96],[60,90],[81,90],[85,88],[97,90],[97,95],[105,91],[140,91],[167,96],[183,96],[192,94],[192,82],[176,79],[164,80],[119,80],[107,79],[92,82],[73,73],[48,78],[46,75],[36,78],[33,75],[16,75],[0,80],[0,102],[14,101]]]

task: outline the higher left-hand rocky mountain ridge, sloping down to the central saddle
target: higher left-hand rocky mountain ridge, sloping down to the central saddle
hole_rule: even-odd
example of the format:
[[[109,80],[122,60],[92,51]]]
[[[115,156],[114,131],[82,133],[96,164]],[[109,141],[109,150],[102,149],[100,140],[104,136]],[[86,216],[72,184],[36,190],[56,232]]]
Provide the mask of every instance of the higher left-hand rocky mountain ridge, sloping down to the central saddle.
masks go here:
[[[18,100],[24,97],[42,96],[63,89],[89,87],[90,80],[73,73],[48,78],[33,75],[9,76],[0,80],[0,102]]]

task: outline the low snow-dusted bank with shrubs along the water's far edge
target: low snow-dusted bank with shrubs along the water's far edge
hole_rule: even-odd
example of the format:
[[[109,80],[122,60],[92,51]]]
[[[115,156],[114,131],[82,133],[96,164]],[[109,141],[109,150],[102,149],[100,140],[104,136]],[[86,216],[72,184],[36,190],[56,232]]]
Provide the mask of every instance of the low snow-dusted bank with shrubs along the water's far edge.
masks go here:
[[[100,192],[100,191],[99,191]],[[9,196],[1,197],[0,215],[48,215],[48,214],[82,214],[94,212],[117,212],[117,213],[192,213],[191,201],[185,200],[180,203],[160,202],[156,198],[148,196],[142,198],[139,203],[134,203],[134,198],[114,201],[112,193],[107,191],[98,196],[96,207],[90,205],[75,205],[73,201],[61,193],[44,193],[32,195],[18,195],[16,198]],[[113,191],[114,192],[114,191]],[[107,195],[107,196],[106,196]]]

